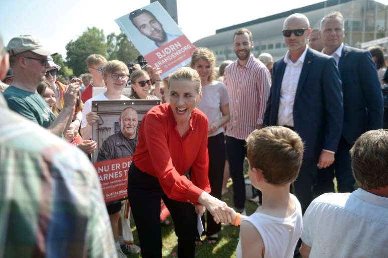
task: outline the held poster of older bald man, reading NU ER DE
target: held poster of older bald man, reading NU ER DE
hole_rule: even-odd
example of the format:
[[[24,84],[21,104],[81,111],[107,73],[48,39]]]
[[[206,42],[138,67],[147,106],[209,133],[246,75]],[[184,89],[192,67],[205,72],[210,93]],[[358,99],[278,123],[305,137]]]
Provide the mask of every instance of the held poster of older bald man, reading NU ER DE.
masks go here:
[[[159,104],[160,100],[92,101],[92,111],[100,117],[92,126],[92,139],[97,142],[92,161],[106,203],[127,199],[138,128],[144,115]]]

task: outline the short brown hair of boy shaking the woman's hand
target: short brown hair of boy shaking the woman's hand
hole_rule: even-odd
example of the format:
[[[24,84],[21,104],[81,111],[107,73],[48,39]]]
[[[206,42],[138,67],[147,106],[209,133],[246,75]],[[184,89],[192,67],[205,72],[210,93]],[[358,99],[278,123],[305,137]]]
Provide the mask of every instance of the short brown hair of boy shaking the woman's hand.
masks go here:
[[[268,183],[283,185],[295,181],[304,149],[296,132],[283,126],[264,127],[253,131],[246,141],[250,167],[262,170]]]

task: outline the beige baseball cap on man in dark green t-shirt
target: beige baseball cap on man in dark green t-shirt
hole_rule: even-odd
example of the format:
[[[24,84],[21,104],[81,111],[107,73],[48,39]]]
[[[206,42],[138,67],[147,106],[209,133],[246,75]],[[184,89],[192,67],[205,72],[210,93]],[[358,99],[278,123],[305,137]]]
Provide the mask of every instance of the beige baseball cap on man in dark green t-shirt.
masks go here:
[[[10,53],[10,56],[14,56],[28,50],[42,56],[57,54],[43,48],[40,41],[32,35],[20,35],[19,37],[12,38],[7,45],[7,50],[8,53]]]

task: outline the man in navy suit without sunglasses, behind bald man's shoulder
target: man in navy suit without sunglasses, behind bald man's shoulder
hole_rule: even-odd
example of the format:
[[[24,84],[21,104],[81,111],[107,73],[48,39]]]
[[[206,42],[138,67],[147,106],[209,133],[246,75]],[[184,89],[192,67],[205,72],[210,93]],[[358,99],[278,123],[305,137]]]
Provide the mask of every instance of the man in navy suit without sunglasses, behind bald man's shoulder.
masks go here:
[[[383,99],[376,66],[369,51],[344,46],[343,16],[332,12],[321,21],[323,53],[333,56],[341,74],[344,120],[335,161],[318,171],[317,194],[334,192],[334,171],[339,192],[352,192],[349,150],[366,131],[382,128]]]

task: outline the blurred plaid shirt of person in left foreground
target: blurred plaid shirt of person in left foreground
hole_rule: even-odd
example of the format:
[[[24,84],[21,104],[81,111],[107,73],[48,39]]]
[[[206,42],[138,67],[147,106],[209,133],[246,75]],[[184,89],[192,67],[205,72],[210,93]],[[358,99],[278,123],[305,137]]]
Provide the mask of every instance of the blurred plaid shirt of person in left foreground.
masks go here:
[[[0,257],[117,257],[86,156],[1,105],[0,117]]]

